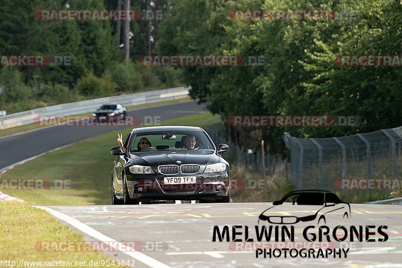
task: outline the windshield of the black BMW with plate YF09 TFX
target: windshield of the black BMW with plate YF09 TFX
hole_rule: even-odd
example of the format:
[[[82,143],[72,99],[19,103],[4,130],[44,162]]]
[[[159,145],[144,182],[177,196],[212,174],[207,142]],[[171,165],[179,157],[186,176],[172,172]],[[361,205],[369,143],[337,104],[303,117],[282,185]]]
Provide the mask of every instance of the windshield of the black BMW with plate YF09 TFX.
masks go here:
[[[190,146],[185,145],[186,137],[193,141]],[[149,148],[140,148],[141,139],[146,138]],[[195,143],[194,143],[195,140]],[[143,140],[144,142],[146,140]],[[203,131],[195,130],[164,130],[139,132],[133,136],[131,152],[149,152],[160,150],[214,150],[208,137]]]

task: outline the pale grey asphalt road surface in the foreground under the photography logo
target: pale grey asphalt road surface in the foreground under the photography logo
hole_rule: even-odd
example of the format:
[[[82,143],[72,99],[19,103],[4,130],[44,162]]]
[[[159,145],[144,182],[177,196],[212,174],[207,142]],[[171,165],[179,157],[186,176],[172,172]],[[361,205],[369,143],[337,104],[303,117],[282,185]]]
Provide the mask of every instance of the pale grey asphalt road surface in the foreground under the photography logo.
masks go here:
[[[331,243],[308,243],[303,231],[308,225],[315,226],[308,230],[308,237],[315,233],[319,237],[318,224],[294,224],[294,244],[281,245],[275,243],[274,235],[270,238],[270,245],[279,248],[349,248],[346,256],[329,254],[328,257],[313,255],[309,257],[269,257],[263,255],[256,257],[255,249],[260,247],[257,243],[255,226],[258,223],[259,214],[270,207],[272,203],[229,203],[229,204],[155,204],[155,205],[121,205],[121,206],[50,206],[53,210],[62,212],[91,227],[109,238],[123,244],[135,244],[140,253],[152,259],[140,261],[143,255],[129,256],[122,252],[110,252],[107,254],[115,259],[125,259],[135,263],[135,267],[161,267],[162,262],[170,267],[402,267],[402,211],[396,205],[366,205],[350,204],[352,215],[349,219],[342,219],[341,213],[333,213],[331,219],[327,218],[327,224],[331,227],[329,240]],[[298,211],[294,206],[283,208],[283,215],[300,215],[306,211]],[[71,221],[69,222],[72,223]],[[224,241],[213,242],[214,226],[218,226],[223,232],[224,226],[229,227],[230,240],[234,238],[252,242],[236,244]],[[232,232],[232,226],[237,226]],[[348,232],[346,239],[341,243],[334,239],[332,230],[335,226],[344,226]],[[350,241],[350,226],[356,226],[362,241],[354,238]],[[387,241],[378,231],[379,226],[387,226],[382,231],[386,233]],[[246,231],[248,226],[248,231]],[[283,226],[283,225],[282,225]],[[288,226],[288,225],[287,225]],[[321,225],[320,225],[321,226]],[[362,231],[359,231],[362,226]],[[371,226],[368,231],[366,226]],[[268,228],[268,225],[266,225]],[[282,227],[280,227],[282,228]],[[81,228],[82,229],[82,228]],[[290,227],[288,227],[290,230]],[[261,230],[261,229],[259,229]],[[281,230],[281,229],[279,229]],[[370,233],[373,232],[373,233]],[[248,233],[248,237],[246,237]],[[281,231],[278,232],[278,240],[281,242]],[[366,234],[374,242],[366,241]],[[336,236],[342,237],[344,231],[338,229]],[[235,236],[235,237],[234,237]],[[93,235],[86,236],[87,240],[93,240]],[[218,237],[218,236],[217,236]],[[287,236],[285,236],[287,237]],[[313,239],[313,238],[309,238]],[[287,239],[288,240],[288,239]],[[316,239],[318,241],[319,238]],[[267,241],[263,238],[262,241]],[[268,240],[269,241],[269,240]],[[327,242],[325,236],[321,239]],[[247,247],[248,245],[248,247]],[[293,245],[293,246],[292,246]],[[129,251],[128,248],[124,249]],[[339,249],[341,250],[341,249]],[[318,252],[318,251],[317,251]],[[276,252],[277,254],[278,252]],[[294,253],[294,252],[293,252]],[[317,253],[318,254],[318,253]],[[325,254],[325,250],[324,250]],[[156,264],[153,261],[159,261]]]

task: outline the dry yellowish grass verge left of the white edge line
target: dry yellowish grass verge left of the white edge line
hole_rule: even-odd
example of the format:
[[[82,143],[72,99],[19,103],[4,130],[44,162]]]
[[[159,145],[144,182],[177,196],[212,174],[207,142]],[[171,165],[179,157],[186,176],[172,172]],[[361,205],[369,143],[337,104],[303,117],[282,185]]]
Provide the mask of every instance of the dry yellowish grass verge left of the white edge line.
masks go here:
[[[72,261],[73,265],[59,263],[59,265],[52,266],[76,267],[75,261],[78,263],[82,261],[82,264],[85,261],[85,265],[79,266],[89,267],[93,266],[89,265],[90,261],[107,262],[109,260],[105,254],[98,251],[44,251],[44,248],[40,246],[41,241],[49,243],[68,241],[69,244],[80,244],[83,238],[77,231],[63,225],[46,211],[32,207],[30,203],[0,202],[0,211],[2,215],[0,218],[0,237],[2,237],[0,256],[3,261],[15,261],[16,266],[22,260],[24,262],[20,267],[45,266],[43,261],[51,261],[54,264],[56,261]],[[41,261],[42,265],[38,262],[29,263],[30,261]],[[8,266],[11,267],[11,262]],[[116,267],[117,265],[101,266]]]

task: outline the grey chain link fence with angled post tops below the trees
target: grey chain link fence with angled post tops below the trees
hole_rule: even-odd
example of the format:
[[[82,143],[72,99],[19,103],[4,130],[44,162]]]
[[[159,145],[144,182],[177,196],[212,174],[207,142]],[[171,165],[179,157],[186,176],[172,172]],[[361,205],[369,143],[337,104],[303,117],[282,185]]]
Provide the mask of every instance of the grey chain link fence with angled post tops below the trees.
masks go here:
[[[369,182],[402,176],[402,126],[349,137],[299,139],[285,132],[282,138],[290,151],[295,189],[337,191],[338,179]],[[367,189],[368,194],[373,191]]]

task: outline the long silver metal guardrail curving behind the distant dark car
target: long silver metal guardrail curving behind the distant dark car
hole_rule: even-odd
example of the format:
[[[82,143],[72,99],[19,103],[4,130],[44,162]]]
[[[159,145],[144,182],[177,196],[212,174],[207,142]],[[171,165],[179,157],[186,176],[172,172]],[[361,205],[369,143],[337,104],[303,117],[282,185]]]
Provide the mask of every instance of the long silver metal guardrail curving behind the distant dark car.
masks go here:
[[[17,112],[0,117],[0,129],[11,128],[20,125],[34,123],[38,116],[68,116],[95,111],[105,103],[119,103],[123,106],[134,106],[159,101],[167,101],[185,98],[188,96],[189,87],[175,87],[128,95],[89,99],[71,103],[58,104],[29,111]]]

